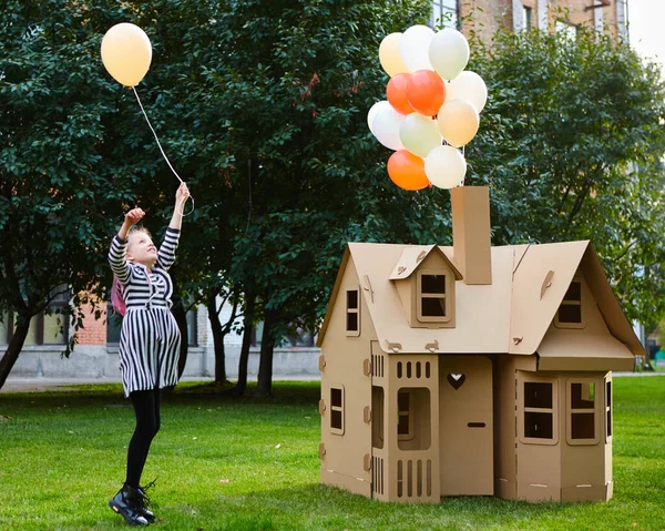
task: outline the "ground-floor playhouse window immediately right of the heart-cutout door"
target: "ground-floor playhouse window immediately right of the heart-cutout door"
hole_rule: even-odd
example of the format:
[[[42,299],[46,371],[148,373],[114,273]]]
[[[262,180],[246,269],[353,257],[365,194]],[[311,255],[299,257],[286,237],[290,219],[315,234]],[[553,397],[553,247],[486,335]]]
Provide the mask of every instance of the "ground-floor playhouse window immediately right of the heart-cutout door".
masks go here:
[[[522,385],[521,441],[530,445],[556,445],[556,380],[539,379]]]

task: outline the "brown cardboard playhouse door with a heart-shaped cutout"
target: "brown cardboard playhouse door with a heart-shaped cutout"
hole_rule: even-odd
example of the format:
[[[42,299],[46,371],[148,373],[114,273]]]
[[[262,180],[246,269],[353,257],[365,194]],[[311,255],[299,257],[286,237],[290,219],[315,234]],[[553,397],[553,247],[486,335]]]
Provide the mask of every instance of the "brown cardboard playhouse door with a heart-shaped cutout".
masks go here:
[[[493,494],[492,362],[439,357],[441,496]]]

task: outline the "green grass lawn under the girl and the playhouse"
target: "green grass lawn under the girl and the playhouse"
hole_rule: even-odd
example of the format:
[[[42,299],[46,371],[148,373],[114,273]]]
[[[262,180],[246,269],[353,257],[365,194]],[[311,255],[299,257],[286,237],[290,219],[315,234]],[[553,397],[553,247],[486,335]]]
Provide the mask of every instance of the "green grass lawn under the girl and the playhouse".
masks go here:
[[[665,377],[614,379],[614,498],[531,504],[382,503],[318,483],[318,382],[232,399],[183,386],[165,400],[143,482],[164,530],[663,530]],[[120,386],[0,395],[0,530],[126,528],[106,506],[124,479],[133,411]]]

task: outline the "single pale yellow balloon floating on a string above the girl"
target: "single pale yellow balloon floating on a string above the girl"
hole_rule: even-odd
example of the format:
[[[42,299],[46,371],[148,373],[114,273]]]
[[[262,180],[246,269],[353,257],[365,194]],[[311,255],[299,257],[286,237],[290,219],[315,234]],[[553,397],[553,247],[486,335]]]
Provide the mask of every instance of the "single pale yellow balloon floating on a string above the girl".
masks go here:
[[[150,39],[135,24],[115,24],[102,39],[102,62],[113,79],[125,86],[139,84],[151,61]]]

